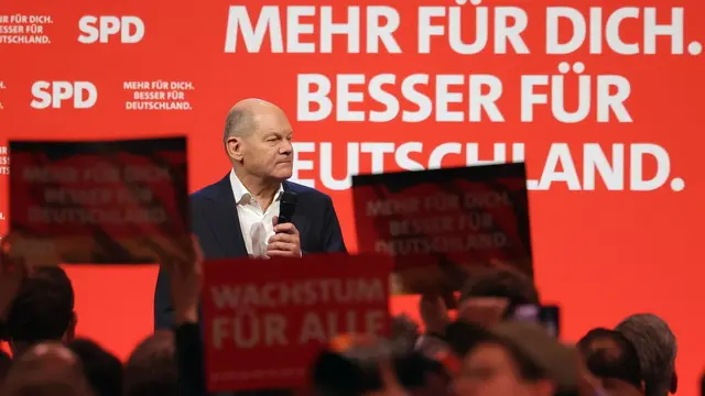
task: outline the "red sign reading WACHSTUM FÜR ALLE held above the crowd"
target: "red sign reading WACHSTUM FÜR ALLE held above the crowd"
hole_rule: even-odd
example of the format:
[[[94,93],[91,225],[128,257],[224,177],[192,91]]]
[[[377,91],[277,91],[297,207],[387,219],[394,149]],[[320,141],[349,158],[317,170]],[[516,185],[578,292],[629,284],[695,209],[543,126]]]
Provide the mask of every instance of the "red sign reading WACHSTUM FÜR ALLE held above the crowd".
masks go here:
[[[305,387],[335,336],[389,336],[391,267],[383,255],[205,262],[208,391]]]

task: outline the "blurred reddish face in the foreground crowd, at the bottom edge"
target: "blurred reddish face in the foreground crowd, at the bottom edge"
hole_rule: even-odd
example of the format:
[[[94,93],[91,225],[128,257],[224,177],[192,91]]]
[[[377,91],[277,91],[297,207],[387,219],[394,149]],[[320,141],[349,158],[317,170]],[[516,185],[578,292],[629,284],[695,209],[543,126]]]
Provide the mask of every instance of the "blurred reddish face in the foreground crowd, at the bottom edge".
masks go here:
[[[501,345],[486,343],[476,346],[463,361],[456,378],[458,396],[533,396],[541,392],[521,378],[509,352]]]

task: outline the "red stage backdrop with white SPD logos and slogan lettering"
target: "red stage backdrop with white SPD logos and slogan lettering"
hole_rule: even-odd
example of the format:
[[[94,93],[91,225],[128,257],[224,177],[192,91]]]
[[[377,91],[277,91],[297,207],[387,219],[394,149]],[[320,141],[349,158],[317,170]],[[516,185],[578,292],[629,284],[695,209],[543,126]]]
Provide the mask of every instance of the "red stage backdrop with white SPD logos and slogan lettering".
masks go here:
[[[261,2],[238,3],[249,6],[254,24]],[[267,2],[268,6],[278,3],[284,2]],[[311,6],[316,2],[296,0],[285,3]],[[318,51],[306,54],[273,53],[278,42],[274,40],[272,47],[271,34],[265,36],[259,53],[248,53],[241,37],[235,52],[226,53],[228,7],[231,2],[223,0],[80,0],[70,4],[4,0],[0,4],[0,145],[10,139],[187,134],[191,189],[195,190],[228,172],[220,136],[229,107],[247,97],[261,97],[280,105],[290,114],[295,141],[299,142],[296,178],[315,184],[334,197],[347,242],[355,249],[350,194],[345,178],[348,170],[364,173],[416,167],[412,162],[424,167],[430,164],[462,165],[475,157],[474,146],[467,146],[467,143],[479,146],[480,160],[492,160],[498,152],[505,154],[501,146],[494,144],[506,143],[507,158],[512,155],[514,158],[525,157],[530,178],[541,180],[530,184],[538,282],[547,300],[563,305],[566,337],[575,339],[592,327],[612,326],[631,312],[659,314],[672,324],[679,337],[683,394],[693,395],[705,351],[703,320],[697,314],[692,314],[697,312],[692,307],[705,302],[701,286],[704,273],[698,263],[699,229],[705,222],[702,210],[705,178],[697,165],[702,160],[702,101],[698,98],[705,89],[705,78],[699,55],[702,45],[695,43],[705,40],[703,2],[684,0],[679,2],[683,9],[674,11],[665,2],[650,0],[639,9],[622,11],[637,18],[625,20],[619,30],[612,25],[601,35],[592,30],[594,43],[603,44],[600,54],[590,53],[586,44],[564,55],[546,54],[545,37],[550,33],[546,10],[554,4],[547,0],[501,0],[480,4],[489,6],[490,28],[496,26],[492,21],[497,13],[520,14],[517,10],[500,10],[496,6],[522,8],[528,16],[522,37],[530,53],[518,54],[522,52],[520,46],[510,46],[506,54],[496,53],[500,51],[494,45],[495,32],[490,29],[488,47],[479,54],[469,55],[454,52],[447,36],[432,36],[430,54],[416,51],[417,37],[421,35],[423,38],[431,32],[423,28],[425,20],[417,16],[429,10],[421,11],[420,8],[438,6],[443,9],[436,11],[447,14],[451,12],[448,8],[456,7],[456,3],[440,0],[390,0],[388,3],[369,0],[358,3],[362,4],[360,20],[364,23],[362,29],[354,30],[362,32],[360,53],[348,54],[346,38],[336,35],[332,53]],[[606,21],[612,11],[627,2],[597,0],[574,3],[582,15],[588,15],[590,6],[601,8],[603,20]],[[330,4],[333,2],[327,2]],[[352,2],[335,1],[335,22],[348,19],[347,6],[352,6]],[[370,6],[388,6],[390,9],[372,10],[368,9]],[[655,9],[650,11],[647,7]],[[481,14],[479,10],[469,3],[457,9],[463,22],[459,35],[466,43],[475,37],[474,18]],[[285,15],[284,7],[281,11],[284,44],[289,44],[283,50],[295,50],[292,37],[286,37],[295,29],[285,29],[288,25],[295,28],[294,19]],[[305,16],[305,9],[289,11],[303,13],[300,22],[313,24],[316,32],[310,34],[306,29],[300,29],[303,33],[300,41],[316,42],[319,16]],[[316,15],[324,13],[319,9],[314,11]],[[652,22],[669,23],[673,15],[677,22],[681,11],[684,22],[675,31],[683,34],[676,34],[675,46],[669,36],[651,40],[658,32],[651,26]],[[391,22],[394,22],[394,15],[399,15],[399,29],[393,37],[402,53],[390,54],[383,46],[378,54],[366,53],[365,28],[368,14],[372,12],[391,15]],[[446,25],[445,31],[448,31],[446,19],[438,16],[430,21],[433,25]],[[511,25],[517,21],[510,22]],[[557,25],[561,42],[567,42],[574,30],[565,19]],[[95,26],[100,30],[95,30]],[[587,23],[586,26],[599,26],[599,23]],[[605,32],[604,28],[601,32]],[[623,55],[610,50],[608,44],[616,43],[617,35],[626,43],[637,43],[638,53]],[[455,42],[458,40],[457,36],[454,38]],[[650,43],[655,43],[655,54],[649,53]],[[315,50],[318,50],[317,44]],[[561,65],[563,62],[567,64]],[[579,64],[575,66],[576,63]],[[592,88],[589,98],[587,85],[578,90],[578,77],[574,72],[564,76],[564,89],[557,85],[557,79],[552,79],[553,90],[543,86],[534,91],[546,94],[549,102],[560,99],[560,94],[564,92],[568,111],[578,109],[582,95],[592,105],[589,117],[579,122],[567,122],[570,120],[556,117],[551,106],[536,105],[532,122],[528,117],[522,118],[521,103],[529,103],[530,99],[530,78],[522,78],[522,75],[547,76],[547,81],[550,76],[563,76],[565,68],[571,67],[582,72],[582,77],[590,76],[592,79],[586,80]],[[336,120],[335,111],[324,120],[305,121],[302,120],[305,114],[299,111],[306,107],[304,97],[297,97],[300,74],[322,74],[330,78],[333,105],[341,109],[343,117],[350,116],[350,111],[382,111],[384,105],[375,98],[390,100],[391,97],[382,96],[380,87],[377,87],[377,92],[373,88],[373,92],[368,95],[365,84],[352,84],[348,90],[360,92],[359,98],[348,96],[347,99],[360,102],[343,109],[346,96],[340,84],[345,78],[338,79],[336,85],[336,74],[364,75],[347,78],[352,82],[369,81],[380,74],[393,74],[397,84],[387,84],[382,89],[402,98],[402,110],[414,112],[419,110],[417,103],[423,108],[433,106],[434,109],[431,118],[421,122],[411,122],[409,118],[402,120],[401,116],[389,122],[352,122]],[[429,87],[415,86],[419,92],[431,98],[429,103],[414,97],[409,86],[402,87],[401,80],[413,74],[430,75],[432,82]],[[449,101],[452,111],[467,111],[468,102],[474,102],[474,99],[467,99],[470,90],[467,75],[477,74],[495,75],[501,80],[502,94],[497,105],[503,121],[497,117],[491,119],[486,112],[482,112],[481,122],[469,122],[468,116],[463,119],[460,114],[457,120],[444,114],[438,99]],[[437,75],[455,77],[442,77],[436,84],[433,81]],[[619,94],[617,87],[606,87],[605,81],[610,77],[598,81],[598,76],[604,75],[623,76],[629,81],[629,98],[625,107],[632,122],[620,122],[615,112],[609,113],[609,122],[598,122],[600,100],[604,103],[607,94]],[[422,80],[424,77],[416,78]],[[152,88],[156,80],[186,81],[189,85],[175,84],[178,89],[171,89],[170,84],[170,89],[162,91],[164,99],[159,99],[158,85]],[[615,80],[618,77],[611,78]],[[603,98],[598,99],[596,92],[600,84]],[[307,87],[299,88],[305,91]],[[455,96],[444,94],[444,90]],[[153,95],[155,99],[149,98],[150,94],[145,94],[149,91],[158,92]],[[480,86],[474,95],[489,91],[487,86]],[[69,95],[74,92],[79,95]],[[336,97],[335,92],[340,95]],[[163,106],[176,110],[150,110]],[[315,109],[315,106],[311,108]],[[400,146],[409,142],[412,144]],[[456,143],[457,146],[442,145],[446,143]],[[634,158],[638,158],[636,151],[641,148],[636,144],[652,144],[652,148],[663,150],[663,155],[658,162],[647,155],[640,167]],[[607,182],[597,173],[593,185],[590,169],[600,158],[596,147],[606,153],[606,161],[612,162],[614,169],[619,169],[623,160],[623,173],[616,172]],[[451,154],[441,158],[445,148]],[[622,148],[623,155],[620,154]],[[497,158],[501,160],[501,156]],[[356,164],[359,165],[357,169]],[[6,172],[4,165],[0,162],[0,174]],[[655,187],[630,183],[632,174],[640,174],[640,168],[647,179],[661,178],[654,183]],[[560,179],[563,172],[568,174],[566,179],[571,183],[547,183],[551,177]],[[570,176],[572,172],[575,172],[574,176]],[[343,182],[332,183],[332,178]],[[621,187],[620,180],[625,182]],[[2,177],[1,186],[0,211],[7,219],[7,177]],[[644,188],[648,190],[639,190]],[[7,221],[0,221],[0,231],[8,227]],[[130,348],[151,330],[155,268],[73,267],[69,272],[77,293],[80,333],[126,356]],[[393,304],[395,311],[411,311],[413,307],[410,300],[397,299]]]

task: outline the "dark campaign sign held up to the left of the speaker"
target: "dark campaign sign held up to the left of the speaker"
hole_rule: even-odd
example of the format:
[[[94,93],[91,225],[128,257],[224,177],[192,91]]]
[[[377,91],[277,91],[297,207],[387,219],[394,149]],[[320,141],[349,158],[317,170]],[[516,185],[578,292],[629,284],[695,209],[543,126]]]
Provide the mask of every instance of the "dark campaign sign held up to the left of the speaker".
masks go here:
[[[192,252],[186,139],[10,142],[12,248],[70,264]]]

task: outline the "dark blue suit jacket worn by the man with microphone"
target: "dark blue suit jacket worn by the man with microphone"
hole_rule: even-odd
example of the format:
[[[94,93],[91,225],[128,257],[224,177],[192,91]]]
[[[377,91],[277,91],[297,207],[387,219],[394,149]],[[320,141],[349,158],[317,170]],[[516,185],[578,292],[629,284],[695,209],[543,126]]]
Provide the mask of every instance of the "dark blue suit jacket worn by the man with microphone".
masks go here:
[[[304,253],[346,252],[338,217],[330,197],[313,188],[284,182],[285,191],[297,195],[292,222]],[[229,174],[191,195],[191,229],[198,237],[205,258],[247,257]],[[154,328],[174,324],[169,276],[160,271],[154,293]]]

